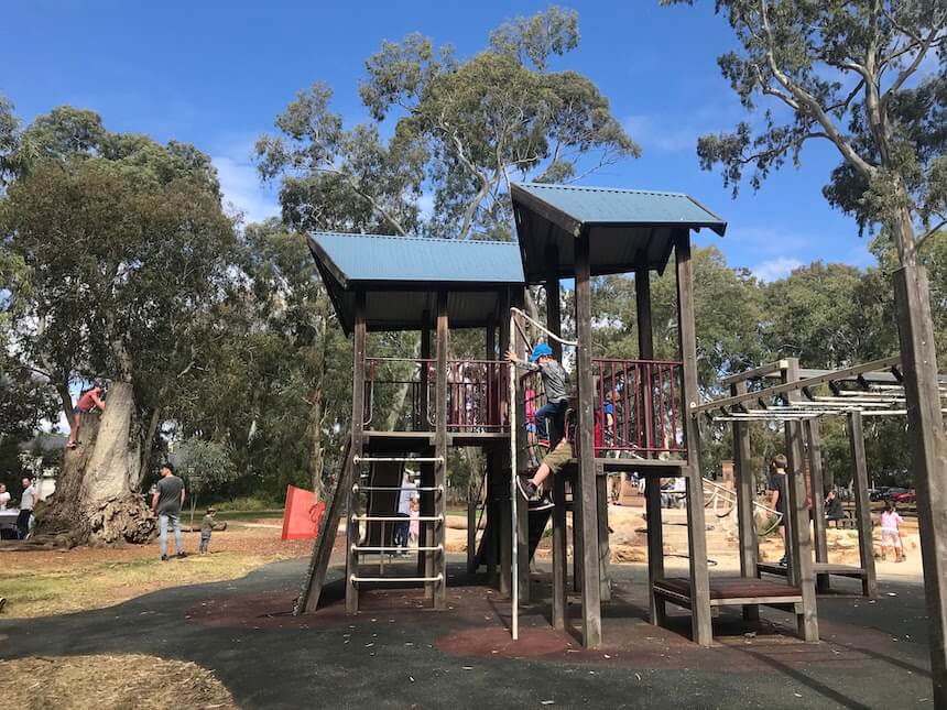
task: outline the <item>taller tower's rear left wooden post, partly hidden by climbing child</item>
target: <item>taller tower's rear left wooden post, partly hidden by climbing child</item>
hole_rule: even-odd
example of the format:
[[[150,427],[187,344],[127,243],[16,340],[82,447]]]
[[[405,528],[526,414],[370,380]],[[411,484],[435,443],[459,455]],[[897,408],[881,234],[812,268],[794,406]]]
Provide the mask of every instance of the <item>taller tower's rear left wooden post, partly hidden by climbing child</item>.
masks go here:
[[[559,303],[559,253],[555,244],[546,251],[546,328],[557,336],[563,332]],[[553,356],[562,362],[563,343],[549,338]],[[553,626],[565,629],[568,616],[568,562],[566,559],[566,481],[565,473],[553,477]]]

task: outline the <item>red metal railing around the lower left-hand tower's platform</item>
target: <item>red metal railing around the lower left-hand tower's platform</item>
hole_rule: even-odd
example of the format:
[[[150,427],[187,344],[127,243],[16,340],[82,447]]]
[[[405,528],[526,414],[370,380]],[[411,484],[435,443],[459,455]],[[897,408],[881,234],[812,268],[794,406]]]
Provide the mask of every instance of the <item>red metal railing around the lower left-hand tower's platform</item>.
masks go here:
[[[366,358],[364,426],[382,432],[434,429],[436,364],[422,358]],[[448,360],[447,428],[509,428],[509,370],[502,360]]]

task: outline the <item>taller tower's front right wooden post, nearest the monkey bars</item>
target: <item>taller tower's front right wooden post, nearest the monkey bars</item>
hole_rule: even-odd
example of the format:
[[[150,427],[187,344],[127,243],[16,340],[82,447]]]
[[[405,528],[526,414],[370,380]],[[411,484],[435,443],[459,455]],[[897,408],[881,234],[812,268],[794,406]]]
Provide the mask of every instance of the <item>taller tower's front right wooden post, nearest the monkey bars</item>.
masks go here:
[[[694,270],[690,232],[678,230],[675,241],[677,266],[677,327],[684,371],[684,438],[687,443],[687,542],[690,555],[690,626],[696,643],[714,641],[710,619],[710,578],[707,571],[707,524],[704,518],[704,478],[700,476],[699,418],[693,408],[700,403],[697,389],[697,332],[694,319]]]

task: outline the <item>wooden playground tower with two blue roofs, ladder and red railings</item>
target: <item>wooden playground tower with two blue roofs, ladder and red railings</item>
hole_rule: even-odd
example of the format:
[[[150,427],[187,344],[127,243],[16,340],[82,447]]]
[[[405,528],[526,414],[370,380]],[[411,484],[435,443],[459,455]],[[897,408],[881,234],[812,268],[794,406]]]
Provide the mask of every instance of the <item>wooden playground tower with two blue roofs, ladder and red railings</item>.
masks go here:
[[[549,334],[562,332],[560,281],[574,280],[577,347],[570,403],[575,423],[574,458],[553,477],[553,599],[556,627],[569,625],[566,514],[572,489],[574,533],[573,587],[580,592],[583,644],[601,642],[601,601],[608,597],[606,476],[635,472],[646,481],[647,568],[651,621],[664,622],[670,601],[689,610],[693,640],[712,641],[711,607],[772,604],[796,613],[801,634],[817,640],[814,592],[806,576],[786,581],[758,579],[755,570],[711,583],[706,554],[704,485],[699,468],[697,352],[693,299],[690,232],[719,234],[726,222],[693,198],[672,193],[586,188],[546,184],[511,189],[518,243],[317,233],[311,249],[323,280],[353,340],[352,428],[346,466],[324,516],[312,569],[297,611],[314,611],[326,577],[331,544],[347,520],[346,607],[356,612],[359,592],[378,585],[418,583],[436,609],[446,605],[445,491],[451,447],[480,447],[486,454],[487,527],[480,547],[469,555],[472,568],[486,566],[501,591],[530,599],[529,561],[545,518],[537,521],[522,495],[512,496],[511,451],[518,473],[525,472],[525,401],[529,378],[515,376],[510,406],[508,349],[525,356],[524,288],[543,285]],[[518,249],[519,247],[519,249]],[[673,256],[673,260],[672,260]],[[674,360],[656,360],[652,335],[651,274],[673,264],[677,292],[677,346]],[[591,280],[632,273],[635,280],[638,352],[621,358],[592,354]],[[511,318],[511,313],[513,318]],[[482,360],[451,361],[451,329],[485,334]],[[393,384],[410,393],[406,417],[385,419],[380,374],[388,360],[367,352],[369,331],[420,330],[418,358],[402,359]],[[432,343],[432,331],[434,332]],[[548,338],[557,357],[562,343]],[[410,376],[404,376],[404,368]],[[432,384],[433,383],[433,384]],[[596,416],[606,398],[616,404],[616,430],[596,439]],[[511,427],[509,413],[515,412]],[[382,424],[384,422],[384,424]],[[511,441],[512,433],[512,441]],[[512,444],[512,446],[511,446]],[[417,568],[411,576],[383,577],[390,543],[384,525],[393,523],[402,467],[421,471],[422,536]],[[388,468],[387,468],[388,467]],[[393,468],[392,468],[393,467]],[[664,570],[660,479],[686,481],[689,574],[667,578]],[[385,500],[385,496],[387,500]],[[516,506],[516,564],[513,565]],[[381,512],[379,512],[381,511]],[[546,513],[547,514],[547,513]],[[542,523],[542,526],[537,525]],[[366,529],[361,529],[361,525]],[[533,537],[531,539],[531,528]],[[808,527],[795,526],[801,536]],[[364,532],[364,536],[362,536]],[[804,548],[799,538],[794,547]],[[379,556],[378,574],[366,558]],[[516,579],[511,570],[515,567]],[[499,571],[499,575],[497,574]],[[810,586],[810,583],[809,583]]]

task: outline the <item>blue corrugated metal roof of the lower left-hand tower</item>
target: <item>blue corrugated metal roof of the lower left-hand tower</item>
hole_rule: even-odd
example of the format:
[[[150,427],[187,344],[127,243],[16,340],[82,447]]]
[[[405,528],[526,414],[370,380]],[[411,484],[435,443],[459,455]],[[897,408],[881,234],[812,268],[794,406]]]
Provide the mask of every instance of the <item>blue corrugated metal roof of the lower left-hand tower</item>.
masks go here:
[[[523,283],[515,242],[315,232],[344,282]]]

